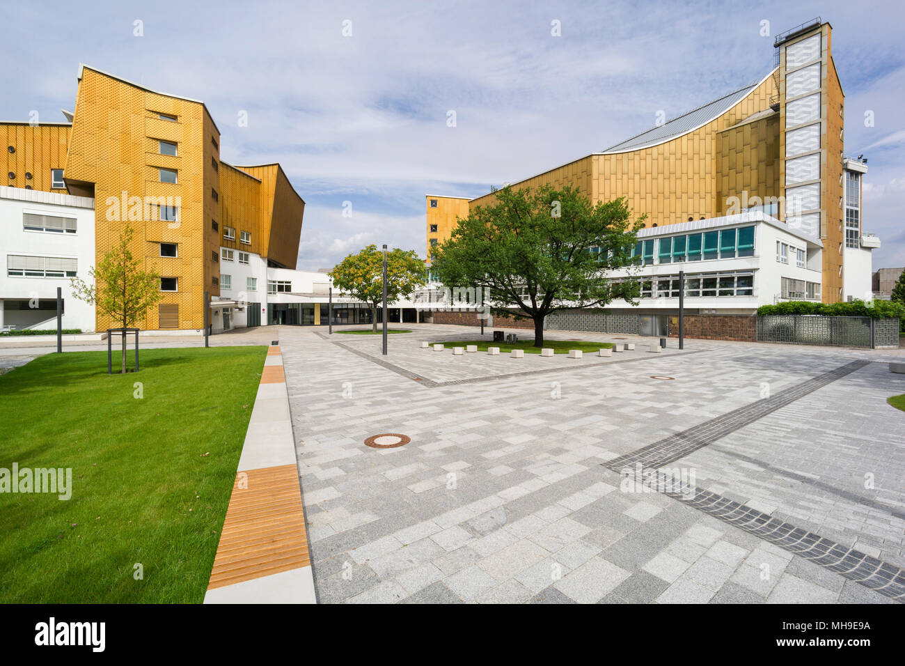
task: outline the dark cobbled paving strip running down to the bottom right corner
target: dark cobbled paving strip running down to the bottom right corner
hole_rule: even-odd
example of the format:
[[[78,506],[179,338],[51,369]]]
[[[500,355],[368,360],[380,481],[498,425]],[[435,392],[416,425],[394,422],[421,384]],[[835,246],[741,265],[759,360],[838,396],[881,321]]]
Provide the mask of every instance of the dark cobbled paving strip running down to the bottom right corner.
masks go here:
[[[605,466],[620,471],[614,469],[611,463],[605,463]],[[900,567],[675,478],[675,475],[658,470],[656,478],[645,480],[647,487],[656,488],[662,494],[715,516],[724,523],[778,545],[789,553],[801,555],[805,560],[824,566],[883,596],[905,603],[905,571]]]

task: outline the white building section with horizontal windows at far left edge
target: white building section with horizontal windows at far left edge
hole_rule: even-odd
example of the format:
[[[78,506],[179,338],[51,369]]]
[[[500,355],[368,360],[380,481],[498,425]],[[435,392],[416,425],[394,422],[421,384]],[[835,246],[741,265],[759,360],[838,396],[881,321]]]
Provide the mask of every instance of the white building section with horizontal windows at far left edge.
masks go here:
[[[94,306],[75,299],[70,278],[90,282],[94,199],[0,186],[0,330],[55,329],[62,288],[62,327],[94,330]]]

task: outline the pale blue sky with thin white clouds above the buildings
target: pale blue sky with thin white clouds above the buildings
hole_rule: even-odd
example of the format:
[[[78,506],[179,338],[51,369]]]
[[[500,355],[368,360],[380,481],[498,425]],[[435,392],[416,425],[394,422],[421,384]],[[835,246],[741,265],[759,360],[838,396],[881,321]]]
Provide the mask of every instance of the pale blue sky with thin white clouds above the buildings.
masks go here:
[[[869,159],[873,266],[905,265],[900,3],[3,5],[0,119],[61,120],[80,62],[204,100],[224,160],[281,162],[307,202],[307,269],[372,242],[423,254],[424,194],[481,195],[757,81],[772,35],[819,15],[834,26],[846,153]]]

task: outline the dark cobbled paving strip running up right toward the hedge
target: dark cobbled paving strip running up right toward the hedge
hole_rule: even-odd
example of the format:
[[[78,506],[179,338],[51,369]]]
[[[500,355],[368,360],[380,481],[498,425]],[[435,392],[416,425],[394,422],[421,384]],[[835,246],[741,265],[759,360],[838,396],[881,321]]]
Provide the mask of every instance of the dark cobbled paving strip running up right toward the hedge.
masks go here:
[[[633,467],[635,463],[641,463],[644,468],[659,468],[668,465],[674,460],[684,458],[692,451],[702,449],[717,439],[726,437],[743,426],[762,419],[767,414],[776,411],[786,405],[804,397],[808,393],[826,386],[859,368],[864,367],[870,361],[853,361],[846,363],[835,370],[824,372],[800,384],[795,384],[785,391],[779,391],[776,395],[764,398],[751,404],[739,407],[737,410],[720,414],[715,419],[706,420],[688,430],[676,432],[667,438],[648,444],[646,447],[636,449],[619,458],[606,463],[607,467],[621,469]]]

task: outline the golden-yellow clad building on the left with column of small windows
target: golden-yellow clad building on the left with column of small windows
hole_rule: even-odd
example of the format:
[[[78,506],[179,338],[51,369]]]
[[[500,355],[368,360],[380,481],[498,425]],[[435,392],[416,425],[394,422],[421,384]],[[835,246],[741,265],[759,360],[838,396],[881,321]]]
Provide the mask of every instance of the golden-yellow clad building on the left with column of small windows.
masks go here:
[[[305,202],[279,164],[222,161],[203,101],[87,65],[78,79],[70,122],[0,123],[5,185],[92,198],[98,258],[133,227],[131,251],[157,270],[164,292],[140,328],[202,329],[205,292],[220,296],[229,249],[295,268]],[[96,330],[115,325],[96,315]]]

